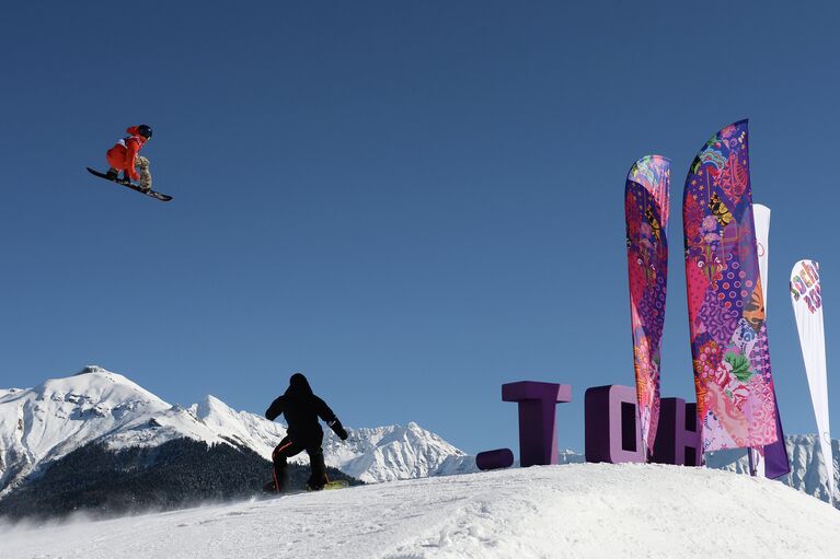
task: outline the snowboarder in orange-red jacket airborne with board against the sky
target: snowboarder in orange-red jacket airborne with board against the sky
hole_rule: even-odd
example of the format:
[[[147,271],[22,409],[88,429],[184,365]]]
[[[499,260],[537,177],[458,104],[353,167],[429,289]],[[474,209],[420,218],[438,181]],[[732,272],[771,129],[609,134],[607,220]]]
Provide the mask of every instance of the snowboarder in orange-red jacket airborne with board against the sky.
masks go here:
[[[88,171],[92,175],[113,180],[152,198],[162,201],[171,200],[171,196],[151,189],[149,160],[139,155],[140,149],[151,139],[151,127],[149,125],[131,126],[126,129],[126,132],[129,136],[118,140],[105,153],[108,165],[111,165],[107,173],[100,173],[91,167],[88,167]],[[123,173],[122,177],[119,177],[120,173]],[[135,184],[133,180],[138,180],[139,184]]]

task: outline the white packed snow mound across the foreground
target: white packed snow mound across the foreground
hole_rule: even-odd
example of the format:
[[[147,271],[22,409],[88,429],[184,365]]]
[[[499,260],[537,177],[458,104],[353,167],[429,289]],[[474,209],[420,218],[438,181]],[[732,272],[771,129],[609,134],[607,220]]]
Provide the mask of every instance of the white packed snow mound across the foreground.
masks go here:
[[[840,511],[707,468],[571,464],[2,528],[3,558],[838,557]]]

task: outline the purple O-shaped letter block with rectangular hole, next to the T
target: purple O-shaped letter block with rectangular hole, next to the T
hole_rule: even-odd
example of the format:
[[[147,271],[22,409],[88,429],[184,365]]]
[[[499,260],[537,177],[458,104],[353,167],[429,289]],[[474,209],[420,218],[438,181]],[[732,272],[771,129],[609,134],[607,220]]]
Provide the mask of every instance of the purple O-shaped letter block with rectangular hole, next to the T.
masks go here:
[[[645,462],[635,388],[597,386],[584,398],[586,462]]]

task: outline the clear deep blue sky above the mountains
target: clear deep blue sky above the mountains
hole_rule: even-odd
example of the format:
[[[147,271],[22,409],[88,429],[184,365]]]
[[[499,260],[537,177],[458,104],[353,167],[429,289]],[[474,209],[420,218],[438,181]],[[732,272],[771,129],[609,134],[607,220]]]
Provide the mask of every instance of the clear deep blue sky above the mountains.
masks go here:
[[[821,264],[840,435],[833,2],[14,2],[0,19],[0,386],[88,363],[262,412],[302,371],[353,427],[518,449],[500,385],[633,383],[623,191],[672,160],[663,394],[693,400],[688,165],[750,119],[789,433],[787,278]],[[128,125],[164,205],[96,179]]]

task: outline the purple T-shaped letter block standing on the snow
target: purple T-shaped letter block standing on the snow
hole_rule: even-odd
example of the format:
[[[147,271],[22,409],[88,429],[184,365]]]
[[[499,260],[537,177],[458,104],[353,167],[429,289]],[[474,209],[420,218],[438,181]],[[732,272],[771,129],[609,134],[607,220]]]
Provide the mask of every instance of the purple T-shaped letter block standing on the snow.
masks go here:
[[[503,384],[502,400],[519,403],[519,465],[556,464],[554,414],[559,401],[572,401],[572,385],[533,381]]]

